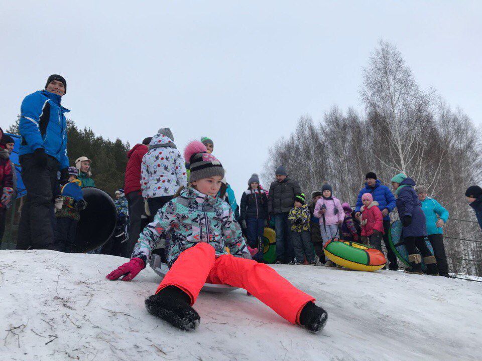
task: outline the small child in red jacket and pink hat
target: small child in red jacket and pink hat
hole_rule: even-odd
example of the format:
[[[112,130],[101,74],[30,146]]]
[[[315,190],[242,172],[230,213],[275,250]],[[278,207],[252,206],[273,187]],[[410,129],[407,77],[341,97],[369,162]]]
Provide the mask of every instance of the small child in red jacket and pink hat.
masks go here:
[[[362,242],[382,252],[383,216],[371,193],[362,196]]]

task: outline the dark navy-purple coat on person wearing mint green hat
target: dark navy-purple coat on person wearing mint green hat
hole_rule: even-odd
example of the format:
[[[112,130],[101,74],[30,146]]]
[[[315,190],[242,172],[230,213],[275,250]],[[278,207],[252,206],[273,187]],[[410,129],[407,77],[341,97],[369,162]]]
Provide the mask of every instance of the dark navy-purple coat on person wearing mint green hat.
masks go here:
[[[422,211],[422,203],[418,199],[417,192],[413,189],[415,182],[412,178],[407,177],[400,183],[403,187],[398,193],[397,210],[400,220],[405,216],[412,217],[412,223],[408,227],[403,227],[402,237],[421,237],[427,236],[427,228],[425,223],[425,214]]]

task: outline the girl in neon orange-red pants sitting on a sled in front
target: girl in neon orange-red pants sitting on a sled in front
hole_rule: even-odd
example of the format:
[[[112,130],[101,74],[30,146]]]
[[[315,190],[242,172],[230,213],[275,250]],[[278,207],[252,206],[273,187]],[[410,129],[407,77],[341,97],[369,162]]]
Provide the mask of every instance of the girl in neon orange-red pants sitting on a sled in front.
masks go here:
[[[199,141],[188,144],[184,157],[191,164],[190,183],[181,195],[160,209],[141,234],[132,259],[107,275],[110,280],[133,279],[146,267],[161,238],[170,236],[171,269],[145,301],[150,313],[180,329],[191,331],[200,322],[192,308],[205,282],[246,289],[286,320],[320,331],[326,311],[314,298],[276,271],[253,261],[229,205],[216,194],[224,169]],[[229,253],[226,251],[229,248]]]

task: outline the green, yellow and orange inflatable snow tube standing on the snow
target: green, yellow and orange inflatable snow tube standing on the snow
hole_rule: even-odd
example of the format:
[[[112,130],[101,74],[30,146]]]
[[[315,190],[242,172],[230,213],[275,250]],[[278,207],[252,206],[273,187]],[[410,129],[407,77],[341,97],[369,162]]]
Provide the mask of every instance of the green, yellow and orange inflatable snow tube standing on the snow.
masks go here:
[[[338,266],[356,271],[378,271],[387,263],[382,252],[360,243],[333,238],[323,248],[326,257]]]

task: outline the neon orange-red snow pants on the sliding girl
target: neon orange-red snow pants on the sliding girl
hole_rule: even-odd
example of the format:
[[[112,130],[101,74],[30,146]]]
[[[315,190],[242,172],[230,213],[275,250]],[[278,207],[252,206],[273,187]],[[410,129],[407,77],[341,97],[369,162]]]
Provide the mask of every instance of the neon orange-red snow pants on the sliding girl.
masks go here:
[[[232,255],[216,258],[207,243],[183,251],[156,293],[167,286],[179,287],[189,295],[192,306],[206,282],[244,288],[292,323],[299,323],[303,306],[315,300],[263,263]]]

